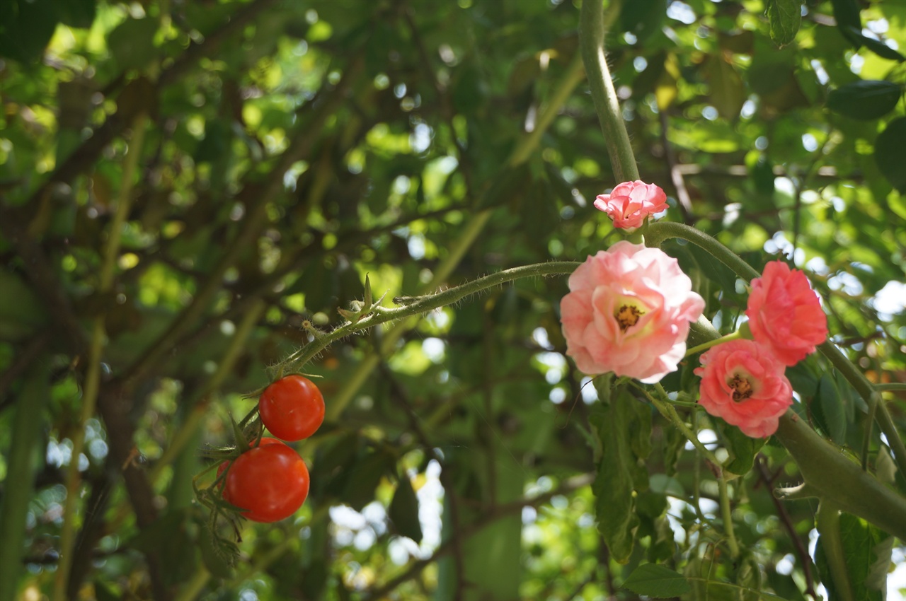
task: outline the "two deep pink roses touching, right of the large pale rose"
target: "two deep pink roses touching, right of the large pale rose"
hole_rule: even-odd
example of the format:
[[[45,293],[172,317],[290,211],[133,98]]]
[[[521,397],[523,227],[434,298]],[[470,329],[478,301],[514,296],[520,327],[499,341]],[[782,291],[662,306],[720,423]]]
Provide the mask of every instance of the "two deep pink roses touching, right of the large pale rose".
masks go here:
[[[731,340],[701,356],[699,403],[753,438],[770,436],[793,404],[786,366],[827,338],[827,318],[805,273],[767,263],[752,281],[746,309],[754,340]]]

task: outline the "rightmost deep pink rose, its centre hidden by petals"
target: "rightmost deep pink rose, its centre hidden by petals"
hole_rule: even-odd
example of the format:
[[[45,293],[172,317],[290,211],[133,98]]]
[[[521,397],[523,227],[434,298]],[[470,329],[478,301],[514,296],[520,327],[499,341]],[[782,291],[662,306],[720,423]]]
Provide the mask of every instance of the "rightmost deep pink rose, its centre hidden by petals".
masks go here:
[[[746,316],[752,336],[787,366],[827,339],[827,317],[805,273],[782,261],[767,263],[761,277],[752,280]]]

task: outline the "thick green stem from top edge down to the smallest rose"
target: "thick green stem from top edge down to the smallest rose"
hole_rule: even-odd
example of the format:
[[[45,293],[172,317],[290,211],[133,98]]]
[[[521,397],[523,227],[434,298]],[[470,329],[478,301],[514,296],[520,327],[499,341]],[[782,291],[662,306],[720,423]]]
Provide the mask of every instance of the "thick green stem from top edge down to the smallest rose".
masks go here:
[[[588,76],[588,86],[592,91],[594,110],[601,121],[604,143],[611,159],[613,175],[617,181],[625,182],[639,179],[639,167],[626,124],[622,119],[620,103],[613,90],[611,72],[604,54],[604,15],[601,0],[586,0],[582,3],[579,24],[579,44]]]

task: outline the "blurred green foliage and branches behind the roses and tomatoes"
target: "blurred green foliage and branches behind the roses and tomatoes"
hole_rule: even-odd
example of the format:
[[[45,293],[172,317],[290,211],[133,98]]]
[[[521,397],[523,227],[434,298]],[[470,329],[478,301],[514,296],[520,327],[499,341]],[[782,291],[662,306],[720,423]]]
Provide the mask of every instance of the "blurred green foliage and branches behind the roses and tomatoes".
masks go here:
[[[328,419],[294,445],[308,501],[247,524],[233,568],[211,549],[192,502],[199,451],[230,444],[228,415],[307,341],[304,320],[339,324],[366,274],[390,305],[618,239],[591,206],[618,182],[577,5],[0,4],[5,594],[629,599],[643,561],[786,599],[820,590],[814,505],[771,494],[796,482],[786,451],[769,442],[735,482],[747,552],[734,564],[710,527],[713,474],[660,417],[634,550],[610,558],[591,486],[602,404],[564,358],[564,277],[329,348],[305,369]],[[906,3],[613,1],[607,14],[623,117],[666,218],[759,270],[792,257],[834,342],[872,380],[906,381]],[[665,249],[734,329],[741,282],[689,245]],[[693,367],[665,386],[694,389]],[[805,418],[861,448],[843,379],[819,358],[789,371]],[[906,431],[906,397],[885,398]],[[725,445],[720,425],[699,425]]]

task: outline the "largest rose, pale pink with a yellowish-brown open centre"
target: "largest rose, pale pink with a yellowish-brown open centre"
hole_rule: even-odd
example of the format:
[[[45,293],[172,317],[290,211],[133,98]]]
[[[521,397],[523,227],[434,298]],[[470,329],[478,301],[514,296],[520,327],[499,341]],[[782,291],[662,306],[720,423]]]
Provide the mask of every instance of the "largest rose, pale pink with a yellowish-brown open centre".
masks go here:
[[[651,384],[686,354],[689,322],[705,301],[660,248],[623,240],[579,265],[560,302],[566,354],[586,374],[612,371]]]

